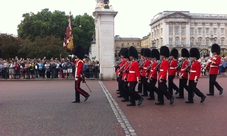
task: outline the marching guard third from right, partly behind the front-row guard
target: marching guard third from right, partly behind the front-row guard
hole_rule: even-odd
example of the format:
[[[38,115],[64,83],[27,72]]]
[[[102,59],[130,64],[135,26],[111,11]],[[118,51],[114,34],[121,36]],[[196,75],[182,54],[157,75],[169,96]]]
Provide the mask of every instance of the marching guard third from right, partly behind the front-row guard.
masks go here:
[[[183,62],[182,65],[180,67],[180,74],[179,74],[179,96],[176,98],[182,98],[184,99],[184,88],[188,91],[188,86],[187,86],[187,82],[188,82],[188,69],[189,69],[189,52],[187,49],[183,48],[181,50],[181,57],[183,57]]]

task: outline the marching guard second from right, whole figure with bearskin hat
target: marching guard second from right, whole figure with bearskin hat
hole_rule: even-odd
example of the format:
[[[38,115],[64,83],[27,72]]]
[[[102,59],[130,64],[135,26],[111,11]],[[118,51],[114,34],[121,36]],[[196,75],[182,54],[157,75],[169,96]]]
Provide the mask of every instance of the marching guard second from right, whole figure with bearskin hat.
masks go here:
[[[189,86],[188,86],[188,101],[185,103],[193,103],[193,92],[201,97],[201,103],[204,102],[206,96],[198,89],[196,88],[196,85],[198,83],[198,80],[200,78],[201,74],[201,64],[198,62],[198,59],[200,58],[200,52],[197,48],[191,48],[190,49],[190,58],[191,58],[191,67],[190,67],[190,75],[189,75]]]

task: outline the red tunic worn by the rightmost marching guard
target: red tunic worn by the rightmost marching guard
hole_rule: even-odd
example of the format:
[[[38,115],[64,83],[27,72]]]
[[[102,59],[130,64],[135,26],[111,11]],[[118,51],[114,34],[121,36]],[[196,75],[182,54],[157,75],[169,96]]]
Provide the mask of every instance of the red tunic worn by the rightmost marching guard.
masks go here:
[[[215,55],[211,58],[211,62],[209,62],[206,68],[210,68],[210,75],[218,75],[219,74],[219,65],[221,64],[221,57]]]

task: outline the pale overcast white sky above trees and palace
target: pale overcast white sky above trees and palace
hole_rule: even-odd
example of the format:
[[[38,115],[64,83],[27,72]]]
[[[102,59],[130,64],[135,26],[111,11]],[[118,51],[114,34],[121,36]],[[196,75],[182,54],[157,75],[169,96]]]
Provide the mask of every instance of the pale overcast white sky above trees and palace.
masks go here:
[[[37,13],[48,8],[73,16],[92,15],[96,0],[0,0],[0,33],[17,36],[17,25],[24,13]],[[150,32],[150,20],[162,11],[190,11],[191,13],[227,14],[226,0],[109,0],[118,12],[115,35],[142,38]]]

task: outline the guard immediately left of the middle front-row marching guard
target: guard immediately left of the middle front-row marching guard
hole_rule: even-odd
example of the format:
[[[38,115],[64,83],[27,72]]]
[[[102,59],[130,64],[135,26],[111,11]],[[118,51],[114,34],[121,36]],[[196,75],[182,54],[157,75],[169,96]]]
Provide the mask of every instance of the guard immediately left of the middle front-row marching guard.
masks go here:
[[[158,62],[160,61],[160,54],[157,49],[152,49],[151,51],[151,68],[148,74],[148,81],[150,83],[150,94],[149,98],[147,100],[155,100],[154,92],[158,94],[158,88],[155,86],[157,83],[157,67],[158,67]],[[160,62],[159,62],[160,63]]]

